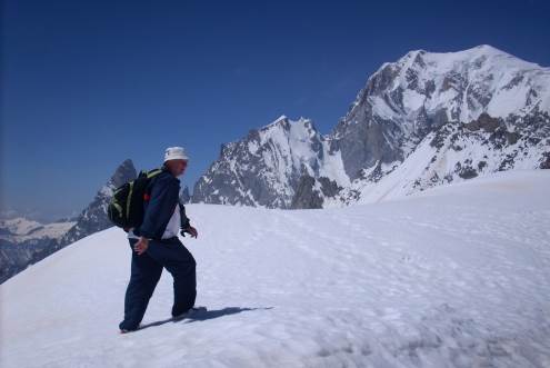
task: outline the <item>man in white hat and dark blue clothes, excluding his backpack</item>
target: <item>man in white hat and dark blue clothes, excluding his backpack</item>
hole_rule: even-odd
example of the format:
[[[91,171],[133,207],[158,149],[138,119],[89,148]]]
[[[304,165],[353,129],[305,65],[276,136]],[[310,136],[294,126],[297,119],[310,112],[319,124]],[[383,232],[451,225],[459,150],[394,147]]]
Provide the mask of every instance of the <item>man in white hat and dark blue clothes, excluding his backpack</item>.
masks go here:
[[[197,297],[196,261],[178,238],[180,228],[191,237],[198,232],[186,216],[179,201],[180,181],[189,157],[181,147],[164,152],[162,172],[150,185],[150,198],[144,201],[143,222],[130,229],[128,239],[132,248],[130,282],[124,298],[124,320],[121,332],[138,329],[157,282],[166,268],[173,277],[172,316],[186,314]]]

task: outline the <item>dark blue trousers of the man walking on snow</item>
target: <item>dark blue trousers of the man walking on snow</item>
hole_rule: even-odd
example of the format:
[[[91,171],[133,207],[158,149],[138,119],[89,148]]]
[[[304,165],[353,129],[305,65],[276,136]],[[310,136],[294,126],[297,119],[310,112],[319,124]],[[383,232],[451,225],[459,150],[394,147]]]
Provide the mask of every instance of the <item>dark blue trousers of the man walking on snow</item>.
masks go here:
[[[126,290],[124,320],[120,329],[134,330],[143,319],[149,299],[159,282],[162,268],[173,277],[172,316],[194,306],[197,297],[196,261],[178,238],[149,241],[149,248],[138,256],[133,246],[138,239],[129,239],[132,249],[130,282]]]

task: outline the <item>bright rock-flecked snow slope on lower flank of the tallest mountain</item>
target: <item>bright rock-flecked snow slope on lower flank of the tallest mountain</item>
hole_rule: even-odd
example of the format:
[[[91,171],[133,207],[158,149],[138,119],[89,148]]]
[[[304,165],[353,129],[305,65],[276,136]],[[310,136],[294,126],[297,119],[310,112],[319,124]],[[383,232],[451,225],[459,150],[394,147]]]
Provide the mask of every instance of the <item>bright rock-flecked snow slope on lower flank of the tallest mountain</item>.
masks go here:
[[[446,128],[426,136],[401,165],[379,181],[356,180],[342,191],[341,200],[326,201],[324,206],[342,206],[353,192],[359,193],[359,202],[371,203],[497,171],[537,169],[538,158],[550,149],[550,140],[533,145],[528,136],[514,145],[493,149],[491,140],[497,140],[496,133],[482,130],[464,133],[467,129],[457,126]]]

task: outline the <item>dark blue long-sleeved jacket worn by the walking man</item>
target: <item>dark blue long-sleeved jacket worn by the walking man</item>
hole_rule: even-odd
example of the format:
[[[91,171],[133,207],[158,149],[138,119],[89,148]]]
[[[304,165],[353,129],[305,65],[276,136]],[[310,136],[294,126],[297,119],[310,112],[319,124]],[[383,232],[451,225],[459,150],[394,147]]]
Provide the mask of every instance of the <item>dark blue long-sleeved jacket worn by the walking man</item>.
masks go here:
[[[160,240],[179,203],[180,180],[166,168],[154,177],[150,185],[150,200],[143,202],[144,216],[141,226],[134,230],[136,235],[148,239]],[[180,205],[181,228],[189,228],[186,208]]]

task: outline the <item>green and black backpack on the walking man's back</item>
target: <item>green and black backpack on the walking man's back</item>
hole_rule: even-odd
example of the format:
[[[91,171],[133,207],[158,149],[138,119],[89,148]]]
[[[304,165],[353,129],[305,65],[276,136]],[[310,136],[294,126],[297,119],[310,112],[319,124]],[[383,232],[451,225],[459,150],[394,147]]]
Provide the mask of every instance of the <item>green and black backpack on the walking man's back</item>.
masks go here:
[[[118,187],[107,208],[109,220],[124,231],[139,227],[143,222],[143,202],[151,196],[151,181],[161,172],[161,169],[141,170],[138,178]]]

